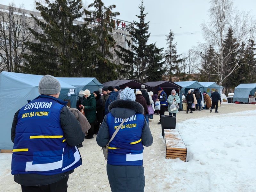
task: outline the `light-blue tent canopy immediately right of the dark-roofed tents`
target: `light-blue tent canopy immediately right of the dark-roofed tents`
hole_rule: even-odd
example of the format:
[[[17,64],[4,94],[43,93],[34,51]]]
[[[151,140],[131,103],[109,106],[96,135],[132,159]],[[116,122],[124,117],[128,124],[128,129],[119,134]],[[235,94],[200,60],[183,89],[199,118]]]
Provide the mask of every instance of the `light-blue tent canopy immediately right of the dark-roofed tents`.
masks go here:
[[[186,97],[189,89],[198,88],[201,92],[203,92],[203,85],[198,83],[198,81],[180,81],[180,82],[174,82],[174,83],[182,87],[180,89],[180,101],[182,101],[182,95],[185,95]],[[182,105],[180,105],[180,109],[182,109]]]

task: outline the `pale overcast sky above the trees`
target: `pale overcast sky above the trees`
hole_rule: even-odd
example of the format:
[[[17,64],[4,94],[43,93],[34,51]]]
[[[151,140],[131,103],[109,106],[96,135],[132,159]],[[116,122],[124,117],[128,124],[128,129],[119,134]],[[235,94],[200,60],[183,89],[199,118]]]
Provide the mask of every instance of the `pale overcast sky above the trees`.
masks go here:
[[[24,5],[25,9],[35,11],[34,0],[0,0],[0,4]],[[93,0],[83,0],[85,5]],[[102,0],[105,6],[116,5],[114,12],[120,12],[118,19],[125,21],[139,21],[135,15],[140,14],[140,0]],[[155,43],[159,48],[166,48],[166,35],[170,29],[174,32],[174,43],[177,42],[177,53],[184,53],[204,42],[201,24],[208,21],[208,0],[144,0],[146,22],[149,23],[151,36],[148,44]],[[234,0],[234,7],[240,11],[251,11],[256,16],[256,0]]]

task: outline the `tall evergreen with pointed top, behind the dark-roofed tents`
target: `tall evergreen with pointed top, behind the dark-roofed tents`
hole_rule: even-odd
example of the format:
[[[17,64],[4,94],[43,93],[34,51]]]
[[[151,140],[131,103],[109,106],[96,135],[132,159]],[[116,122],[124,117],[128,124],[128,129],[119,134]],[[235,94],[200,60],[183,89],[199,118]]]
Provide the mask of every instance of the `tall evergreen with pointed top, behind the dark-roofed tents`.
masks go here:
[[[155,44],[147,45],[150,33],[148,33],[149,22],[145,22],[148,13],[144,13],[143,1],[141,1],[139,9],[140,15],[136,15],[136,17],[140,21],[133,21],[134,26],[130,30],[132,38],[131,40],[126,39],[132,51],[117,46],[120,51],[116,50],[116,53],[125,63],[123,70],[127,70],[126,78],[136,79],[142,83],[156,78],[159,81],[164,74],[164,62],[162,62],[161,54],[163,49],[157,48]]]

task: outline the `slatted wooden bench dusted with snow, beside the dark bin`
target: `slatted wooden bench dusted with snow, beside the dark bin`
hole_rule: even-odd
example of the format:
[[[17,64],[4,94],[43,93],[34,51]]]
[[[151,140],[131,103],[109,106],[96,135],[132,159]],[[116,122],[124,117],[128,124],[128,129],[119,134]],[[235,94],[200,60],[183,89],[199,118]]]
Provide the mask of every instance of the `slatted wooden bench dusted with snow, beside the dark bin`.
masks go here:
[[[182,161],[187,159],[187,147],[184,144],[177,129],[164,129],[166,144],[166,159],[180,158]]]

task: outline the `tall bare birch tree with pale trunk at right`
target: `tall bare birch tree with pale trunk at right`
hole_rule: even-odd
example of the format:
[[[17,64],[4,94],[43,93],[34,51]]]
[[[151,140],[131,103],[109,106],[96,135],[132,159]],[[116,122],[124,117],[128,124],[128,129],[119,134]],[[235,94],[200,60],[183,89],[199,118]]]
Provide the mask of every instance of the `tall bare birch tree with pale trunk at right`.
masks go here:
[[[256,22],[251,17],[250,12],[239,12],[233,9],[231,0],[211,0],[209,9],[210,21],[202,24],[204,39],[208,45],[212,45],[215,50],[216,67],[207,70],[212,66],[206,66],[205,73],[217,76],[218,83],[222,85],[223,81],[233,74],[243,64],[240,60],[243,58],[245,51],[238,54],[238,47],[226,47],[224,43],[225,35],[228,29],[234,31],[233,38],[237,44],[245,43],[245,50],[250,45],[250,39],[254,38]],[[224,54],[225,50],[225,54]],[[228,51],[227,51],[228,50]],[[229,58],[235,54],[235,62],[229,63]],[[207,63],[204,63],[207,65]],[[227,67],[229,66],[229,67]]]

